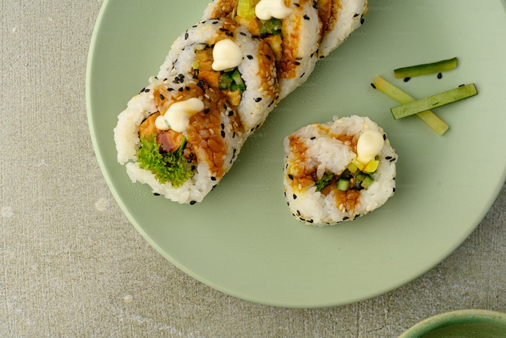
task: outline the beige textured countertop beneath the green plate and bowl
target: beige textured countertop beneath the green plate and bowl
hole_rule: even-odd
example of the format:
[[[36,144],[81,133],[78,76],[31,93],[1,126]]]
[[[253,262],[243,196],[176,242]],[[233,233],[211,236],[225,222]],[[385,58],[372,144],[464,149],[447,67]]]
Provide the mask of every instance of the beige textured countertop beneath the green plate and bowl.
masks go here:
[[[116,204],[92,146],[85,77],[101,5],[2,2],[0,335],[395,337],[441,312],[506,311],[506,185],[438,266],[356,304],[249,303],[170,264]]]

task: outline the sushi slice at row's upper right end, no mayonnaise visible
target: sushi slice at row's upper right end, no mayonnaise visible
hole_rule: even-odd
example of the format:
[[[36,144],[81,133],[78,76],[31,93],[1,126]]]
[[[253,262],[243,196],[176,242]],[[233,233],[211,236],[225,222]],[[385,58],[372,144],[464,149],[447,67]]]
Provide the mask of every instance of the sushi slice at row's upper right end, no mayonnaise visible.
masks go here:
[[[363,21],[368,0],[318,0],[318,15],[323,24],[319,57],[338,48]]]

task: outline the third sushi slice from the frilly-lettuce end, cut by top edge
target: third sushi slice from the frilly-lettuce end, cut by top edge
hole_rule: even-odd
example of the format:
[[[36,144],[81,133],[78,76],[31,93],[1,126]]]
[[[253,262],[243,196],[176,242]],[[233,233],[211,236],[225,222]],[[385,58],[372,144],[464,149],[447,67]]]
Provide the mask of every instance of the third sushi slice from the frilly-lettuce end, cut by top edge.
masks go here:
[[[316,0],[214,0],[203,19],[218,17],[234,20],[269,44],[276,57],[279,99],[310,76],[322,28]]]

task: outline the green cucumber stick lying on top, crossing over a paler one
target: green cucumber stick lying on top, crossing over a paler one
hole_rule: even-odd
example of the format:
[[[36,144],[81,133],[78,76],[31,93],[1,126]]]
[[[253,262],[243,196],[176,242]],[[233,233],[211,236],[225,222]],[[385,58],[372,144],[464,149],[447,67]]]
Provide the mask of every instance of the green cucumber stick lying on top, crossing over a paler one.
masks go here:
[[[469,84],[390,108],[390,111],[392,112],[394,119],[398,120],[406,116],[414,115],[421,111],[456,102],[458,100],[462,100],[476,94],[478,93],[476,92],[475,85]]]

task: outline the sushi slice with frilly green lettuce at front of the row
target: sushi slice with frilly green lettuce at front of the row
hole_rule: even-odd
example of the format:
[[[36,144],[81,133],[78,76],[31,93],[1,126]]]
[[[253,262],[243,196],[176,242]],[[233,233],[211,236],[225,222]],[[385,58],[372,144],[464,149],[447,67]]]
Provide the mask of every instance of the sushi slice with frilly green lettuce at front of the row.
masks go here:
[[[235,161],[246,133],[226,95],[198,80],[155,80],[114,128],[117,161],[133,182],[179,203],[201,202]]]

